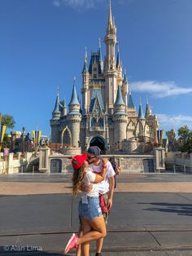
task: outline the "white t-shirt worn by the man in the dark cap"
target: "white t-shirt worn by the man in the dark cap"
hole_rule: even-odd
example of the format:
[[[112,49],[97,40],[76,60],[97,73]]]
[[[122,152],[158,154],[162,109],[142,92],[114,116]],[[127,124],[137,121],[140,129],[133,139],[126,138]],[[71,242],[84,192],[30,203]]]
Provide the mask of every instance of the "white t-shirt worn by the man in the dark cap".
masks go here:
[[[103,161],[100,162],[98,166],[94,166],[93,164],[90,164],[88,166],[88,170],[92,172],[100,173],[103,170]],[[97,183],[98,192],[100,194],[105,194],[109,191],[109,178],[113,177],[116,174],[115,170],[113,170],[111,166],[111,162],[107,161],[107,174],[105,176],[105,179],[101,183]]]

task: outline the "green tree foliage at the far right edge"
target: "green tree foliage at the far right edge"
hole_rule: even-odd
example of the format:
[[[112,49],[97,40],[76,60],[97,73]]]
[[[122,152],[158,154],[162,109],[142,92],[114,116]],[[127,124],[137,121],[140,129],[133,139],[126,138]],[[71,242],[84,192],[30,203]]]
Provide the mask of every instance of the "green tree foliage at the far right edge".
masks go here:
[[[181,152],[192,152],[192,131],[188,126],[182,126],[178,130],[178,142]]]

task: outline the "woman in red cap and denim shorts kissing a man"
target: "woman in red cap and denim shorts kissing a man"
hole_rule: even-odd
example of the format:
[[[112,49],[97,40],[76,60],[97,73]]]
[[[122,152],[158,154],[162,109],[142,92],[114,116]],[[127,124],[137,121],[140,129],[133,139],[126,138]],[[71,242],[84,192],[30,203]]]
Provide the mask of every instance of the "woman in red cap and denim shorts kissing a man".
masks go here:
[[[107,158],[103,158],[103,171],[101,174],[94,174],[87,170],[88,157],[86,154],[72,157],[73,175],[72,175],[72,194],[77,196],[82,183],[93,183],[90,192],[83,192],[79,202],[78,210],[81,217],[83,236],[72,234],[65,248],[65,254],[73,248],[81,245],[82,256],[89,256],[89,241],[98,240],[106,236],[106,224],[104,222],[102,210],[99,205],[98,187],[105,179],[107,172]]]

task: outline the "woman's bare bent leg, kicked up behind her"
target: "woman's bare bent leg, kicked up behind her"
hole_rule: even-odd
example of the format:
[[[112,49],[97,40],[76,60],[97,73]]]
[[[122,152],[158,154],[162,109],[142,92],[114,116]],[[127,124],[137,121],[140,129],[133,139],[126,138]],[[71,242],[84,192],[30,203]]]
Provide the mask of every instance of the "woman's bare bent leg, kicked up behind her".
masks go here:
[[[93,230],[84,236],[79,237],[77,240],[78,245],[84,244],[85,242],[98,240],[99,238],[106,236],[107,231],[103,215],[97,218],[86,219],[86,222]]]

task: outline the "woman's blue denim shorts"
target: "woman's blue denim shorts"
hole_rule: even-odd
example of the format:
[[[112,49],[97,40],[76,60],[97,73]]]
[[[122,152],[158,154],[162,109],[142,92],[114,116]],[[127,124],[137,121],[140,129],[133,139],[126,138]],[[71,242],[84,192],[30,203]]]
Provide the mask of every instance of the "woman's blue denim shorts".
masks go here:
[[[102,210],[99,205],[98,196],[87,196],[88,204],[79,202],[79,215],[81,218],[92,219],[102,215]]]

